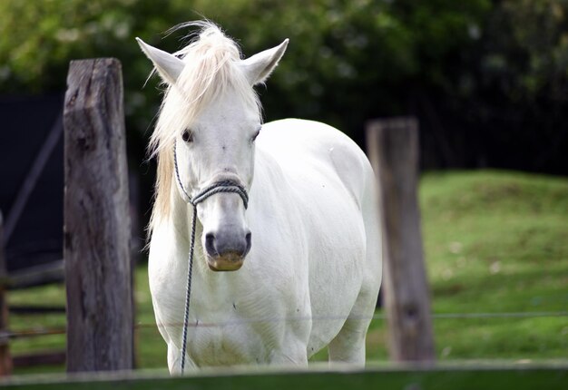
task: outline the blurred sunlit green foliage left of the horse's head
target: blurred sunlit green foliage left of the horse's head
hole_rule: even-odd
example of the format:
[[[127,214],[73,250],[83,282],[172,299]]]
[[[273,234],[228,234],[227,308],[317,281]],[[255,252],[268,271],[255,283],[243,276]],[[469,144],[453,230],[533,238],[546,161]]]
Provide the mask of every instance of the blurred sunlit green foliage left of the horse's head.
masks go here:
[[[161,32],[171,23],[182,21],[175,3],[162,5],[136,0],[0,2],[0,92],[62,92],[70,60],[115,56],[122,61],[129,122],[131,126],[145,129],[152,118],[149,108],[157,107],[158,100],[152,101],[148,94],[151,98],[148,102],[146,94],[142,93],[149,66],[133,37],[142,35],[157,44]],[[136,116],[132,115],[134,112]]]

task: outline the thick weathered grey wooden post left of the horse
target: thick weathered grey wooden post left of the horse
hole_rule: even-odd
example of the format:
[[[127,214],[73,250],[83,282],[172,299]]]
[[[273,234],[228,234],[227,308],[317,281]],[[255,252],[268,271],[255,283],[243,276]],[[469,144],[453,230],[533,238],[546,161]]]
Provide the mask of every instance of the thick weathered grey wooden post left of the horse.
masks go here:
[[[67,371],[132,368],[121,63],[72,61],[64,103]]]

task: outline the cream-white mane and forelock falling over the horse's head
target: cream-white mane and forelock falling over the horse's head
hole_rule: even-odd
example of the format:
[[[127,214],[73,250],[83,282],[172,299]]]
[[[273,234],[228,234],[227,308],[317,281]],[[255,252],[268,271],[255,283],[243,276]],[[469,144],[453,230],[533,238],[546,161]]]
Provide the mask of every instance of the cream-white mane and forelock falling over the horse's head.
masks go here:
[[[176,29],[187,26],[198,26],[201,30],[197,39],[175,53],[185,67],[176,83],[166,88],[150,139],[151,156],[158,158],[151,230],[170,214],[176,136],[191,128],[203,108],[227,91],[237,93],[243,102],[258,107],[260,112],[258,96],[238,66],[241,56],[239,46],[211,22],[191,22]]]

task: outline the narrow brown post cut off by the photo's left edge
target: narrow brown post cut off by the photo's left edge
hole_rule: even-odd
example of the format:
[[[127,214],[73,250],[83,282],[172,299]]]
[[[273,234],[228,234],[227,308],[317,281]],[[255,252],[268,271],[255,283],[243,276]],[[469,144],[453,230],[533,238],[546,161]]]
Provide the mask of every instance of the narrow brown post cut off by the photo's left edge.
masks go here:
[[[12,356],[8,340],[8,305],[6,302],[6,263],[4,254],[4,219],[0,210],[0,376],[12,374]]]

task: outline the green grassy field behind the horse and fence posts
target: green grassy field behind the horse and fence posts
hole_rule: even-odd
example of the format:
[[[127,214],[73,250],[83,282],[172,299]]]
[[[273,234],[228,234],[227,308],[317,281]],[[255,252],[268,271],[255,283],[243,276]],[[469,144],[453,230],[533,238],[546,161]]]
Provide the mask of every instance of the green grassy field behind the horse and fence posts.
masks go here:
[[[433,312],[541,313],[538,317],[436,318],[440,360],[542,361],[568,357],[568,180],[509,171],[428,173],[420,185]],[[165,367],[153,327],[145,267],[136,269],[138,366]],[[64,304],[64,288],[12,292],[13,305]],[[543,313],[564,312],[563,317]],[[64,328],[64,316],[15,316],[11,328]],[[367,358],[387,360],[383,320],[371,324]],[[16,339],[15,355],[64,348],[64,336]],[[325,353],[317,359],[325,358]],[[63,371],[34,367],[20,373]]]

